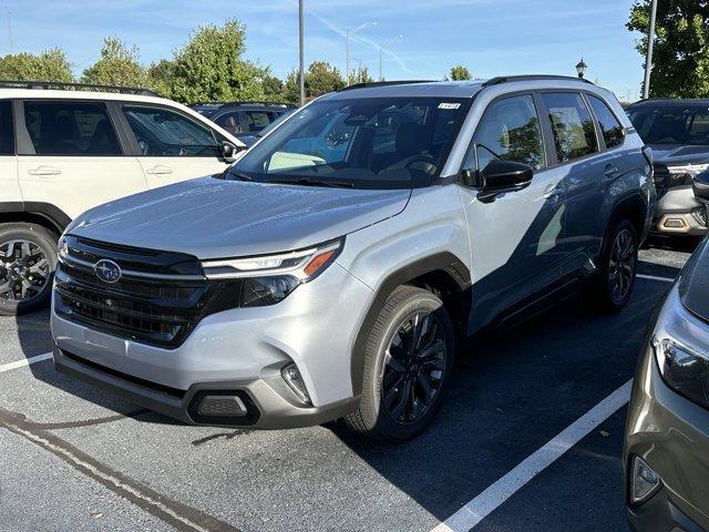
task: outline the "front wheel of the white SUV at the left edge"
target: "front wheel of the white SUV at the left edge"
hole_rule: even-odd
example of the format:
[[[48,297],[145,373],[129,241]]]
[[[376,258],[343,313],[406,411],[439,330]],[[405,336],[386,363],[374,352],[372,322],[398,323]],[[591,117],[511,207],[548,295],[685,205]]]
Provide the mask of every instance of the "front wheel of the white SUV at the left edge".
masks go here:
[[[39,310],[49,301],[56,239],[35,224],[0,224],[0,315]]]

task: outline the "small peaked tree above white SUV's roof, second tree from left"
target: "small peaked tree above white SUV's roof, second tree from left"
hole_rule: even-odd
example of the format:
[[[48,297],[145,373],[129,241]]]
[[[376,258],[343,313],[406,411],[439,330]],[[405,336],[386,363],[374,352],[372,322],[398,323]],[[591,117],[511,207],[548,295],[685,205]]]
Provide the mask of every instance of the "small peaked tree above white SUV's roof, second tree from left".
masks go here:
[[[81,81],[101,85],[145,86],[147,74],[138,61],[137,47],[130,47],[117,37],[106,37],[101,58],[84,70]]]

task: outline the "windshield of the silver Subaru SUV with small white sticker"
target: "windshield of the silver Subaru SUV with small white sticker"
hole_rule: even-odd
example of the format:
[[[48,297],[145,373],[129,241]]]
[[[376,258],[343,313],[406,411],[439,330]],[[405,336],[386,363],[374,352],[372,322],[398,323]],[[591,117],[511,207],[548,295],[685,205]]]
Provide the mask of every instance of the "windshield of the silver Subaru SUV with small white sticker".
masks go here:
[[[357,188],[428,186],[469,100],[372,98],[315,102],[248,151],[227,178]]]

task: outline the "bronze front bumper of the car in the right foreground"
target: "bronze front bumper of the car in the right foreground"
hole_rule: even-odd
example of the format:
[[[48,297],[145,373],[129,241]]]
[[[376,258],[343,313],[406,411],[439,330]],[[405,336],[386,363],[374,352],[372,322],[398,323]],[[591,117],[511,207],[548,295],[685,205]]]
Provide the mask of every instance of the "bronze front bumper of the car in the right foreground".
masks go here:
[[[670,293],[666,306],[672,297]],[[634,456],[641,457],[661,480],[659,491],[637,505],[629,502]],[[635,530],[709,530],[709,411],[665,383],[649,345],[634,381],[624,467],[626,515]]]

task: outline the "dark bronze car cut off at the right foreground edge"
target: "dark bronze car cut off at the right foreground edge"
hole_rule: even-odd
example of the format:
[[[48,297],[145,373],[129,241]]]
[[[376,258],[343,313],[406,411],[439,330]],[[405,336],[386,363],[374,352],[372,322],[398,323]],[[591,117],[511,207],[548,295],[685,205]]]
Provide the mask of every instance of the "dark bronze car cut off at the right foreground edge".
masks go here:
[[[697,177],[709,200],[709,173]],[[637,369],[624,463],[638,531],[709,530],[709,238],[669,290]]]

